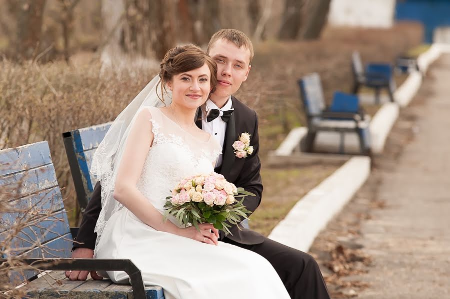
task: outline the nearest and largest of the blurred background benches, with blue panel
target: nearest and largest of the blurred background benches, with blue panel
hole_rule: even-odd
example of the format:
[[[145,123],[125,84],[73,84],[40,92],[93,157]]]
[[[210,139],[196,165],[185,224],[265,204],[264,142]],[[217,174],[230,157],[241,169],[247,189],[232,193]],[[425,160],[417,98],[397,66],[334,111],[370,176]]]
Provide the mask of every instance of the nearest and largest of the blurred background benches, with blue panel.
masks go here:
[[[346,132],[355,132],[358,135],[361,154],[370,153],[368,131],[370,118],[359,108],[357,96],[336,92],[331,106],[326,107],[317,73],[303,76],[298,80],[298,85],[308,126],[305,137],[306,152],[312,152],[318,131],[335,131],[340,133],[340,153],[343,153]]]

